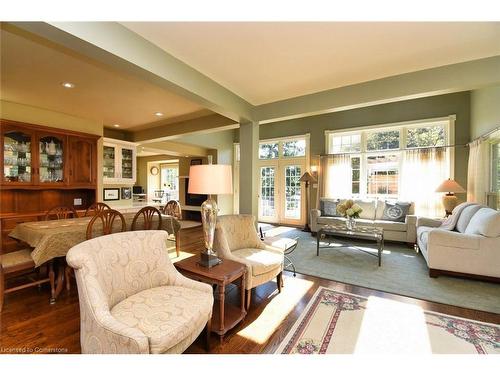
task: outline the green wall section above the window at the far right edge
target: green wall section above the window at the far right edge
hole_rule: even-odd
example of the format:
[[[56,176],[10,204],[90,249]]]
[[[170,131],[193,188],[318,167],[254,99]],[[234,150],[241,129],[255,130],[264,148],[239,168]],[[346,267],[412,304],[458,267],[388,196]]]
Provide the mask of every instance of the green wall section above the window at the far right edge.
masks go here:
[[[500,86],[471,92],[471,138],[500,126]]]

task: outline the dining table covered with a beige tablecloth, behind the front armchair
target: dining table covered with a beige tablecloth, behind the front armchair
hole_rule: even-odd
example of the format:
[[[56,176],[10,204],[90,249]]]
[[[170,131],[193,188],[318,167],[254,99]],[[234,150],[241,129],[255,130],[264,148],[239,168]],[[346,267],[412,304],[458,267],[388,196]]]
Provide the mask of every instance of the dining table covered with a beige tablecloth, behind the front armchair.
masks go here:
[[[131,230],[132,221],[135,213],[123,213],[125,219],[126,230]],[[55,302],[62,290],[64,277],[64,262],[60,262],[61,258],[66,257],[68,251],[75,245],[87,240],[87,226],[92,219],[91,216],[78,217],[70,219],[48,220],[48,221],[30,221],[19,223],[9,233],[18,241],[28,244],[31,248],[31,258],[35,266],[39,267],[47,262],[57,261],[59,263],[55,292],[51,296],[51,302]],[[136,229],[141,229],[142,216],[139,216],[136,222]],[[153,221],[158,221],[155,215]],[[115,220],[117,230],[121,230],[121,223]],[[99,227],[102,228],[102,223],[97,220],[94,223],[94,228],[99,233]],[[179,221],[170,215],[161,215],[161,230],[169,233],[169,239],[175,241],[176,251],[178,253],[178,234],[181,225]]]

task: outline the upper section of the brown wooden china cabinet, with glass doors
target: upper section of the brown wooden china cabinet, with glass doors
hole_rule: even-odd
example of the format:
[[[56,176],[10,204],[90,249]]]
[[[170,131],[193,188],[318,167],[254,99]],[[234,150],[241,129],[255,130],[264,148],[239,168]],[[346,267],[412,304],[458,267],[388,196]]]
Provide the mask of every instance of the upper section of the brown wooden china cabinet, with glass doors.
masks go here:
[[[2,188],[95,188],[97,136],[1,120]]]

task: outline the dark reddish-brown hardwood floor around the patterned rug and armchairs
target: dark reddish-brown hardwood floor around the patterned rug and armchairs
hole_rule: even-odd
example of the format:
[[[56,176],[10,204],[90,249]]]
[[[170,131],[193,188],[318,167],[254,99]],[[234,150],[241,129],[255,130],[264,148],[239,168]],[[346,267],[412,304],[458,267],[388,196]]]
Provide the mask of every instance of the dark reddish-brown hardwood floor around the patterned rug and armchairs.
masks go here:
[[[201,228],[181,231],[181,251],[196,254],[203,248]],[[182,256],[186,254],[181,254]],[[279,345],[320,286],[362,296],[375,295],[410,303],[422,309],[463,318],[500,324],[500,315],[456,306],[402,297],[317,277],[284,273],[284,288],[277,294],[276,283],[257,288],[245,320],[230,331],[222,344],[212,335],[210,353],[270,353]],[[237,287],[228,288],[226,300],[237,304]],[[70,292],[63,292],[55,305],[49,304],[50,291],[29,288],[8,294],[0,316],[0,353],[79,353],[80,318],[78,294],[73,283]],[[206,353],[203,335],[186,351]]]

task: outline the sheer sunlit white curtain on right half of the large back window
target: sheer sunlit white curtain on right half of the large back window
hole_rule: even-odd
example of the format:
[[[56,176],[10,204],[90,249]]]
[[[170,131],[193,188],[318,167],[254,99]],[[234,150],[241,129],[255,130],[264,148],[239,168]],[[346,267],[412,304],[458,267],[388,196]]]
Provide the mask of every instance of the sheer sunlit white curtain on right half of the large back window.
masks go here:
[[[435,190],[448,177],[445,148],[406,150],[401,171],[401,199],[415,202],[415,214],[442,217],[442,195]]]

